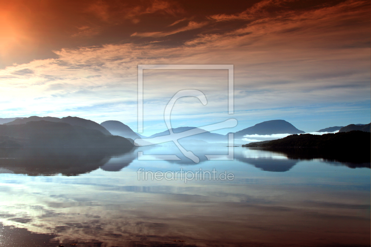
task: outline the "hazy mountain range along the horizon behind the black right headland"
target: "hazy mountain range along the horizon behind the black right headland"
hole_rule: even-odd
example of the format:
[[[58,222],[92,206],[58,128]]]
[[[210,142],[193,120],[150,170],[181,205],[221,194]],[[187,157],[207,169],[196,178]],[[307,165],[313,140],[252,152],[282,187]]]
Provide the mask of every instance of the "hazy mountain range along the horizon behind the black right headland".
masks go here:
[[[48,137],[49,138],[48,140],[54,143],[52,145],[62,145],[62,143],[58,143],[58,141],[56,141],[56,138],[57,138],[56,136],[58,136],[58,133],[59,134],[69,133],[67,136],[71,138],[70,143],[72,143],[72,145],[78,145],[78,142],[76,138],[72,138],[72,136],[70,135],[71,133],[75,133],[77,136],[81,137],[82,139],[85,138],[84,139],[85,142],[82,141],[82,143],[80,143],[81,145],[90,145],[88,144],[88,142],[86,142],[87,140],[90,140],[90,139],[92,140],[93,144],[91,145],[93,146],[98,145],[95,142],[98,139],[102,141],[103,143],[105,143],[104,145],[109,145],[108,143],[110,141],[107,142],[106,140],[104,140],[104,138],[96,136],[97,135],[96,132],[94,132],[95,133],[94,134],[93,132],[89,132],[88,130],[98,131],[104,136],[114,135],[114,136],[125,137],[129,139],[131,143],[134,143],[133,140],[137,138],[144,138],[144,139],[154,138],[154,137],[159,137],[159,136],[167,136],[170,134],[169,130],[165,130],[160,133],[153,134],[152,136],[145,137],[145,136],[142,136],[141,134],[135,133],[129,126],[127,126],[124,123],[121,123],[120,121],[109,120],[109,121],[104,121],[101,124],[98,124],[91,120],[82,119],[79,117],[71,117],[71,116],[63,117],[63,118],[31,116],[31,117],[24,117],[24,118],[8,118],[8,119],[0,119],[0,120],[3,120],[3,121],[8,120],[7,123],[3,123],[2,126],[0,125],[1,126],[0,135],[3,135],[3,137],[0,138],[0,146],[1,145],[9,146],[12,144],[14,146],[25,145],[25,144],[31,145],[31,146],[36,145],[37,143],[36,138],[33,138],[33,137],[31,138],[32,136],[31,132],[36,131],[36,129],[38,131],[38,132],[36,131],[37,133],[39,133],[41,136],[43,135],[45,136],[45,133],[47,133],[48,131],[52,132],[52,129],[54,128],[54,131],[56,131],[55,137],[51,137],[51,136]],[[37,122],[40,122],[40,123],[37,124]],[[60,125],[60,124],[67,124],[67,125],[62,127],[63,125]],[[6,129],[3,126],[7,126],[8,128]],[[14,127],[14,126],[23,126],[23,127]],[[31,130],[32,128],[33,130]],[[45,128],[44,130],[45,133],[42,133],[42,128]],[[70,132],[67,131],[67,128],[69,128]],[[173,128],[172,130],[174,133],[181,133],[181,132],[195,129],[195,128],[196,127],[178,127],[178,128]],[[202,130],[202,128],[197,128],[197,129],[204,131]],[[333,132],[336,130],[339,130],[339,132],[347,132],[351,130],[363,130],[363,131],[370,132],[370,124],[366,124],[366,125],[351,124],[345,127],[334,126],[334,127],[328,127],[328,128],[321,129],[318,132]],[[17,135],[16,134],[17,131],[20,131],[19,133],[23,133],[23,134]],[[233,134],[234,134],[235,139],[242,139],[246,135],[253,135],[253,134],[272,135],[272,134],[302,134],[302,133],[305,133],[305,132],[297,129],[295,126],[293,126],[291,123],[285,120],[270,120],[270,121],[264,121],[262,123],[255,124],[254,126],[251,126],[248,128],[244,128],[243,130],[237,131]],[[83,137],[84,135],[85,137]],[[25,139],[23,140],[22,138],[25,138]],[[66,143],[69,142],[69,141],[66,141],[66,138],[67,138],[66,136],[60,135],[58,138],[61,138]],[[93,141],[94,138],[96,138],[95,141]],[[116,137],[112,137],[111,141],[114,138]],[[200,133],[200,134],[184,137],[181,140],[187,140],[187,141],[198,140],[198,141],[206,141],[209,143],[227,143],[228,134],[222,135],[222,134],[217,134],[217,133],[211,133],[209,131],[204,131],[203,133]],[[44,144],[46,145],[45,141],[43,145]],[[63,145],[70,145],[70,144],[63,144]]]

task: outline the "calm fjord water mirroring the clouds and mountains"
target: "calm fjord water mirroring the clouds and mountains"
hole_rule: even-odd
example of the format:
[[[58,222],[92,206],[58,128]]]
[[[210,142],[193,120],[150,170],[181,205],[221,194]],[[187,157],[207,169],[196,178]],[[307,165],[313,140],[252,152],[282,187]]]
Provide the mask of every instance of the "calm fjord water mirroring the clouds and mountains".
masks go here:
[[[369,161],[187,150],[200,163],[174,146],[0,150],[0,246],[370,246]],[[181,160],[138,160],[138,151]],[[139,168],[234,178],[138,180]]]

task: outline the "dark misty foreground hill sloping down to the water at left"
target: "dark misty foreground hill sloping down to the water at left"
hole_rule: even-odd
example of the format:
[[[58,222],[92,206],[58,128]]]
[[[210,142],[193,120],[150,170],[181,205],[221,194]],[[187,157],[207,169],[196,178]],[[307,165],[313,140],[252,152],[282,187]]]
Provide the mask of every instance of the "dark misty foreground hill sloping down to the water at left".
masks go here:
[[[15,138],[12,141],[32,147],[133,147],[121,136],[106,136],[99,130],[44,120],[0,125],[0,136]]]

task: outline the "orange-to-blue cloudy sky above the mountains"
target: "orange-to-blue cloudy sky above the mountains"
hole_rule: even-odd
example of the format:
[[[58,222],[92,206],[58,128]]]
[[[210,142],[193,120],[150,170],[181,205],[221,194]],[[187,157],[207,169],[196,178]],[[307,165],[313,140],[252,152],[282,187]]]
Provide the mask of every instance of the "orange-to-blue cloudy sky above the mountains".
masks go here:
[[[138,64],[233,64],[144,70],[144,135],[230,118],[242,130],[283,119],[305,132],[371,121],[370,1],[0,0],[0,117],[118,120],[137,131]]]

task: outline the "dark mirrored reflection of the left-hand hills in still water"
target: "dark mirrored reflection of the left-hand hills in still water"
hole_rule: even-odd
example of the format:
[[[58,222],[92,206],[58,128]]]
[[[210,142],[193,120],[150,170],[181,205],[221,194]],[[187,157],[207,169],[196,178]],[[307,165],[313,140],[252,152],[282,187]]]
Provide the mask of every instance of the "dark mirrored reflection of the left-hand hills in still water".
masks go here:
[[[0,148],[0,172],[29,176],[55,174],[76,176],[100,167],[107,171],[119,171],[134,160],[133,150],[68,147]],[[115,156],[121,157],[119,163],[114,161]]]

